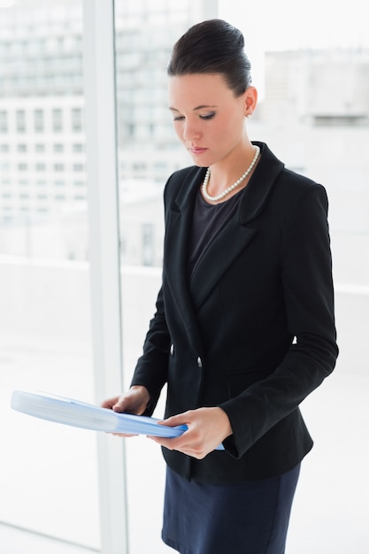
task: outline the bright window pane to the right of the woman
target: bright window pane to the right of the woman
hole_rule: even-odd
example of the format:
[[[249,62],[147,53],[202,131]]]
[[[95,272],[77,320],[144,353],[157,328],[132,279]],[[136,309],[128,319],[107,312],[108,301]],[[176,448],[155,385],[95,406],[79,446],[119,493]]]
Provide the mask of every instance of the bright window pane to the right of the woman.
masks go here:
[[[333,15],[333,4],[318,0],[309,5],[287,0],[254,4],[253,18],[263,21],[262,25],[250,24],[246,7],[236,0],[220,0],[219,6],[220,17],[241,27],[245,35],[254,68],[253,84],[260,93],[257,110],[247,121],[250,137],[267,142],[288,168],[321,183],[329,200],[341,352],[332,377],[302,405],[316,447],[306,458],[306,471],[297,486],[289,549],[308,554],[326,543],[327,550],[341,554],[352,549],[355,536],[356,550],[365,550],[362,499],[369,496],[368,483],[363,480],[369,458],[362,454],[362,437],[369,425],[365,400],[365,337],[369,336],[369,35],[365,5],[353,0],[348,12],[343,4],[334,4]],[[317,10],[318,20],[314,17]],[[288,18],[283,13],[288,13]],[[291,26],[290,21],[297,19],[304,24]],[[349,448],[339,438],[342,428],[350,429]],[[352,456],[353,452],[357,455]],[[340,461],[331,464],[330,460]],[[314,508],[317,496],[319,510]],[[352,503],[360,506],[356,518],[350,517]],[[301,540],[307,519],[313,542]],[[347,525],[341,526],[342,521]]]

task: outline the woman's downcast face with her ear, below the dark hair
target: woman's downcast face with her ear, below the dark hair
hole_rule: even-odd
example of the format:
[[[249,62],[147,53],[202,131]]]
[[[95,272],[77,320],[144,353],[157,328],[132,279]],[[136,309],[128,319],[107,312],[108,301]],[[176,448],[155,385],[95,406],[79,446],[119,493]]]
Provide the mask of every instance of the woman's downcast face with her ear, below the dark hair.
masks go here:
[[[169,109],[181,142],[195,165],[231,161],[248,139],[244,119],[252,113],[255,89],[235,97],[222,75],[190,73],[170,77]]]

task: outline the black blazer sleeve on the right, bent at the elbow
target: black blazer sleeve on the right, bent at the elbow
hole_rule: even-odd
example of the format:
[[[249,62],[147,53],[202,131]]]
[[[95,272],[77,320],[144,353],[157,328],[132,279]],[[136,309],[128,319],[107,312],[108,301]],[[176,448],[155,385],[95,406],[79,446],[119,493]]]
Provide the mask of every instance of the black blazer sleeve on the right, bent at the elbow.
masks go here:
[[[334,369],[334,289],[326,190],[304,189],[281,236],[281,283],[288,333],[295,337],[274,372],[220,407],[234,434],[226,450],[239,458],[289,413]]]

